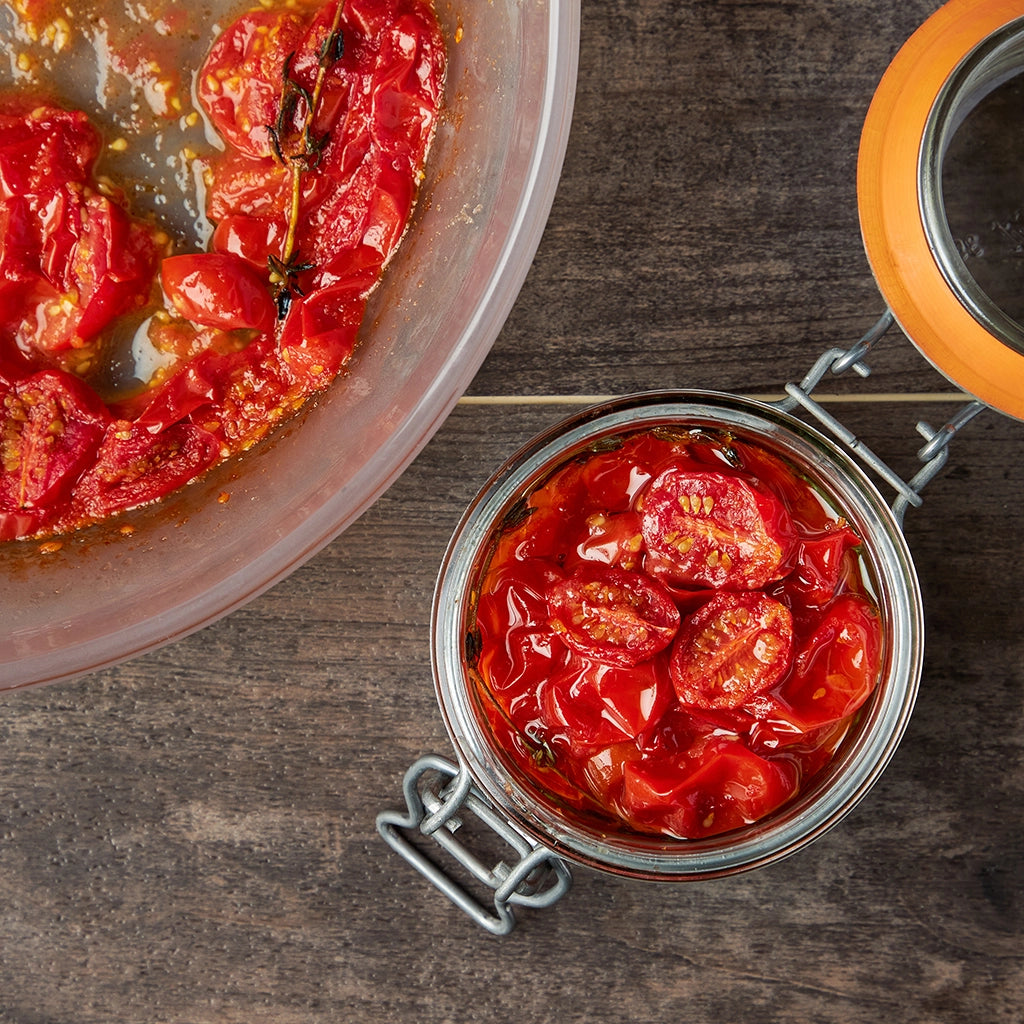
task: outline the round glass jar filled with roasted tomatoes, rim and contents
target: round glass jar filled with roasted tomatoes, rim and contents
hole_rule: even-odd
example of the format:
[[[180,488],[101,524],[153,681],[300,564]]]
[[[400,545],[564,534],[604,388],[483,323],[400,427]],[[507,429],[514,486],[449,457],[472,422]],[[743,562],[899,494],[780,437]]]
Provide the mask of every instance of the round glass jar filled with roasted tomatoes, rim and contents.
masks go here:
[[[853,460],[731,395],[599,407],[470,507],[434,605],[460,760],[559,855],[648,878],[775,859],[881,773],[921,668],[916,577]]]

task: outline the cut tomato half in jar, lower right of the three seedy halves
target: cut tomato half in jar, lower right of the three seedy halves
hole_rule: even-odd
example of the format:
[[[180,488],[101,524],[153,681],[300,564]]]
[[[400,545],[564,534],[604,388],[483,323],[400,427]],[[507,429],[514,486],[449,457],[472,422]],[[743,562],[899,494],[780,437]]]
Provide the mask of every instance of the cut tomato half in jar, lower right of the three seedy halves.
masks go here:
[[[738,708],[781,678],[792,647],[784,604],[760,593],[719,594],[680,630],[672,682],[684,705]]]

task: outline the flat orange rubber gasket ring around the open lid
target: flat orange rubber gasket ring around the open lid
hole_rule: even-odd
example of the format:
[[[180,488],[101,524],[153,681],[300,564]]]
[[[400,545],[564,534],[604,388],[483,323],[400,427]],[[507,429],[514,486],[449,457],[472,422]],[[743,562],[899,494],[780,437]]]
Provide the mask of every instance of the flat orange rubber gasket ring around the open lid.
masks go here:
[[[969,54],[1014,20],[1024,0],[951,0],[906,42],[871,100],[857,203],[868,262],[907,337],[953,383],[1024,419],[1024,353],[984,326],[950,286],[922,214],[922,150],[943,87]]]

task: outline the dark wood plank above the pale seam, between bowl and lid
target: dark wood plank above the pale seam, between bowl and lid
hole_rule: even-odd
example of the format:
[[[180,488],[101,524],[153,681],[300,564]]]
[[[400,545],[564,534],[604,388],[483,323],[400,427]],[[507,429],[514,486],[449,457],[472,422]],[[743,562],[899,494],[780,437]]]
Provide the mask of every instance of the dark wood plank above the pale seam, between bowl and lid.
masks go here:
[[[859,337],[884,308],[860,241],[860,129],[936,6],[585,3],[561,188],[473,390],[772,391]],[[907,346],[867,386],[936,383]]]

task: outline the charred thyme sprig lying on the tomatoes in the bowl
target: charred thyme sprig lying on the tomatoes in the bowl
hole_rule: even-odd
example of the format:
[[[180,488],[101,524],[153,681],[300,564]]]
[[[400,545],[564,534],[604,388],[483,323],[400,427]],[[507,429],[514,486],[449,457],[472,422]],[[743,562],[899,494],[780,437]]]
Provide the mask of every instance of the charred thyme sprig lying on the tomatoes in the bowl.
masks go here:
[[[296,295],[302,295],[298,275],[306,270],[312,270],[314,265],[305,262],[296,249],[295,237],[299,226],[299,205],[302,198],[302,175],[315,170],[324,155],[330,138],[330,133],[317,134],[313,131],[316,111],[319,106],[324,82],[330,67],[341,59],[344,52],[344,37],[341,33],[342,4],[335,7],[331,29],[316,54],[316,80],[312,90],[305,88],[292,75],[294,53],[289,53],[282,68],[281,103],[278,108],[278,119],[274,124],[267,125],[270,136],[270,147],[281,164],[288,168],[291,174],[291,202],[288,212],[288,231],[281,256],[267,257],[270,270],[270,285],[274,292],[274,302],[278,306],[278,319],[288,315],[292,300]],[[298,127],[294,126],[297,118],[301,118]]]

